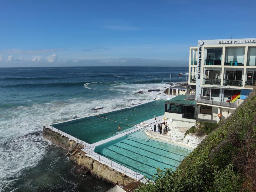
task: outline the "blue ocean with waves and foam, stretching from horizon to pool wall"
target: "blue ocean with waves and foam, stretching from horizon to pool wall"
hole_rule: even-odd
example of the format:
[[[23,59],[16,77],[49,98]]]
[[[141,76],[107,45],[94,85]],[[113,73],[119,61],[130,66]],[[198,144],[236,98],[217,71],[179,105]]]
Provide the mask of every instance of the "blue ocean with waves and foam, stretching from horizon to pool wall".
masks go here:
[[[185,82],[185,74],[178,77],[188,67],[0,68],[0,191],[109,188],[77,172],[65,151],[42,137],[43,125],[165,97],[170,73],[171,83]]]

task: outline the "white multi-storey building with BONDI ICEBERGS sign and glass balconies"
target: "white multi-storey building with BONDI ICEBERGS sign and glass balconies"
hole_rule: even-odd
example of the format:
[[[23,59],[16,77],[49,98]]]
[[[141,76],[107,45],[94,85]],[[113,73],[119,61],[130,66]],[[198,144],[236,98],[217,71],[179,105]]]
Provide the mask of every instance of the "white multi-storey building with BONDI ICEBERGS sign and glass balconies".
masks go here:
[[[253,90],[255,81],[256,38],[199,40],[197,47],[190,47],[188,84],[196,92],[185,100],[197,101],[195,119],[227,118]],[[181,112],[183,120],[191,119]],[[165,116],[173,114],[165,111]]]

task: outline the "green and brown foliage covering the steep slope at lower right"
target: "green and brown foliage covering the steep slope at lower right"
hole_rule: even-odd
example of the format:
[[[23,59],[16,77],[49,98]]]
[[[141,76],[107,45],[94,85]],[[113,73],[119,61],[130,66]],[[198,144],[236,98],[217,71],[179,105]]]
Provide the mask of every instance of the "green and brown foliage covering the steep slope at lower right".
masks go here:
[[[256,191],[256,91],[187,156],[136,190]]]

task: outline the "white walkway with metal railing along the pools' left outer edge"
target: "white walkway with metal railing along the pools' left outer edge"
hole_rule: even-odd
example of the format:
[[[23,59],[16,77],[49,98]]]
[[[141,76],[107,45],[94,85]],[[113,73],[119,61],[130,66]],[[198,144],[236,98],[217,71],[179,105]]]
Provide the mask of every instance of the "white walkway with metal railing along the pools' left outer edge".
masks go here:
[[[135,179],[135,180],[139,181],[139,180],[144,178],[144,176],[142,174],[140,174],[138,172],[135,172],[135,171],[132,171],[131,169],[128,169],[128,168],[124,167],[123,165],[120,165],[116,162],[111,161],[110,159],[108,159],[104,156],[99,155],[98,153],[95,153],[93,149],[90,149],[90,148],[93,148],[95,146],[93,146],[91,144],[88,144],[88,143],[86,143],[86,142],[84,142],[84,141],[82,141],[82,140],[80,140],[80,139],[78,139],[78,138],[76,138],[76,137],[74,137],[70,134],[67,134],[63,131],[60,131],[59,129],[56,129],[56,128],[52,127],[51,125],[46,125],[46,127],[48,129],[51,129],[54,132],[57,132],[57,133],[65,136],[65,137],[69,138],[70,140],[76,141],[77,144],[80,144],[84,147],[84,148],[80,149],[82,152],[86,153],[88,156],[90,156],[91,158],[99,161],[100,163],[105,164],[109,167],[112,167],[113,169],[115,169],[118,172],[129,173],[130,174],[129,177],[132,178],[132,179]],[[138,176],[143,176],[143,177],[138,177]]]

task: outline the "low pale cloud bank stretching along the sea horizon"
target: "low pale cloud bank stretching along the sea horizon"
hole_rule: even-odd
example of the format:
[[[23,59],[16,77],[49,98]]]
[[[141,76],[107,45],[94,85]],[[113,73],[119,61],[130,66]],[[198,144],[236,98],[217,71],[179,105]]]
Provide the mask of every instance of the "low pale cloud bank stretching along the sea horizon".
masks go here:
[[[157,60],[143,58],[112,58],[112,59],[66,59],[57,60],[58,55],[53,54],[43,59],[34,56],[30,60],[15,59],[10,55],[7,60],[0,56],[0,67],[68,67],[68,66],[168,66],[187,67],[188,61]],[[2,59],[2,60],[1,60]]]

